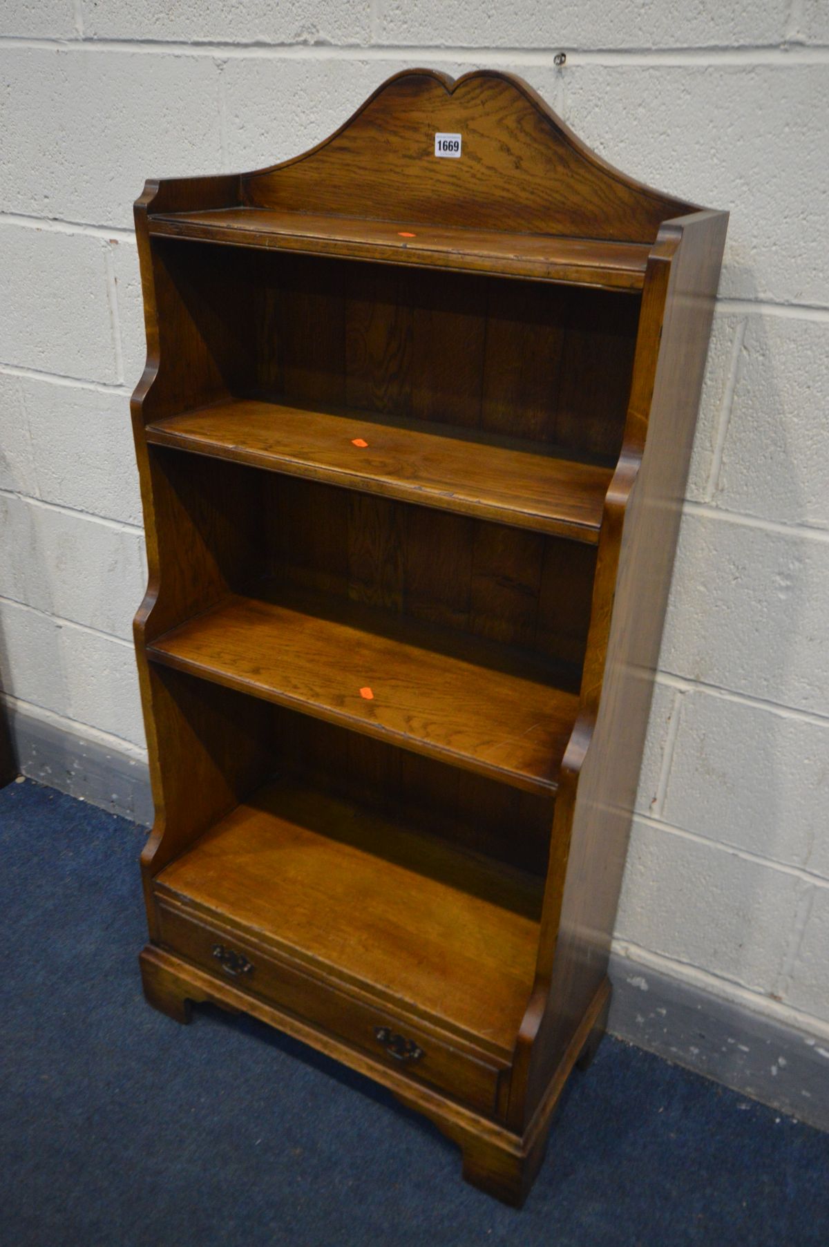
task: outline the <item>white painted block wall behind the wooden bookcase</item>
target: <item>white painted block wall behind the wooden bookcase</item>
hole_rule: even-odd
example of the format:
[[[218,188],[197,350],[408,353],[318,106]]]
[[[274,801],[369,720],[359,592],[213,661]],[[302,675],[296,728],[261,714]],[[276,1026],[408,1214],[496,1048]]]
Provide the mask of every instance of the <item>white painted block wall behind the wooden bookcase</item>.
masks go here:
[[[406,65],[512,70],[612,163],[732,212],[618,946],[825,1034],[824,0],[9,0],[6,696],[142,748],[127,399],[145,360],[131,236],[145,180],[294,155]]]

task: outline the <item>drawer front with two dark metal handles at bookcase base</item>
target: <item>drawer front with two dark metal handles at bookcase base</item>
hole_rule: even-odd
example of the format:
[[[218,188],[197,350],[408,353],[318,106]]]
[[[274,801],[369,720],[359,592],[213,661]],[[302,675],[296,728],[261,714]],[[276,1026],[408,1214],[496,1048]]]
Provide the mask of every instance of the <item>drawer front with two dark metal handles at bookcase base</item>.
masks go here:
[[[487,1116],[495,1115],[496,1066],[271,959],[234,934],[212,929],[160,898],[156,904],[161,939],[175,953],[379,1057],[413,1081],[431,1084]]]

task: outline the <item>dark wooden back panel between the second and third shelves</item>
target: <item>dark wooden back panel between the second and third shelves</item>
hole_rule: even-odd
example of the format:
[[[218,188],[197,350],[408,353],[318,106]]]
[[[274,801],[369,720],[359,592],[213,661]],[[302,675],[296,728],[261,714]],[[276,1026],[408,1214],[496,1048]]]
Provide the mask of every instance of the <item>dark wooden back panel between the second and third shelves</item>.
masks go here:
[[[581,663],[595,546],[294,476],[248,475],[248,511],[259,516],[259,575],[267,569],[287,586],[374,602]],[[257,494],[263,480],[273,489]],[[226,513],[236,496],[222,500]],[[246,531],[242,521],[238,531]],[[556,567],[566,581],[556,581]],[[231,566],[236,591],[247,592],[248,581],[232,574]]]

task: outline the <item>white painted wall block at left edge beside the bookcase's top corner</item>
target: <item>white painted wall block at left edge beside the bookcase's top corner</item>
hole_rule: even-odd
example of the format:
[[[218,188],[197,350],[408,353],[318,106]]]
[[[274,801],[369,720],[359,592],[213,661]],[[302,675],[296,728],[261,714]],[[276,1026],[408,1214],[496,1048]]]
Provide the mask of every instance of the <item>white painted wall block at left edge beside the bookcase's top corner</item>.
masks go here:
[[[219,167],[219,71],[209,56],[6,45],[0,74],[6,212],[130,228],[145,177]]]

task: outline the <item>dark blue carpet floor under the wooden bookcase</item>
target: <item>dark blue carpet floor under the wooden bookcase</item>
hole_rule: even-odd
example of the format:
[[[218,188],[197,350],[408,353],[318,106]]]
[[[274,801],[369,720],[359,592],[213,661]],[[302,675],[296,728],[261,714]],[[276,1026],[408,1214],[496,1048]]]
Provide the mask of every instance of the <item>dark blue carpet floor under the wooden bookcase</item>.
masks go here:
[[[606,1039],[521,1212],[384,1091],[244,1018],[142,999],[145,832],[0,791],[0,1238],[44,1247],[829,1243],[829,1136]]]

